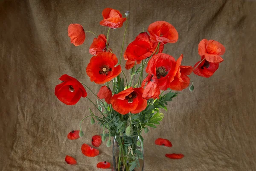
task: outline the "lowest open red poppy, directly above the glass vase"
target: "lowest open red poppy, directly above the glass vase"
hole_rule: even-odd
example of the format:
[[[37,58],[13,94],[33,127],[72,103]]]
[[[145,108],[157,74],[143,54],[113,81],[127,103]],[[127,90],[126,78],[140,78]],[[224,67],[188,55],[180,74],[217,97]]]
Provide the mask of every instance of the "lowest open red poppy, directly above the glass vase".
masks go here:
[[[129,112],[140,113],[147,107],[147,100],[142,98],[144,89],[130,87],[115,94],[111,98],[111,104],[116,112],[125,115]]]

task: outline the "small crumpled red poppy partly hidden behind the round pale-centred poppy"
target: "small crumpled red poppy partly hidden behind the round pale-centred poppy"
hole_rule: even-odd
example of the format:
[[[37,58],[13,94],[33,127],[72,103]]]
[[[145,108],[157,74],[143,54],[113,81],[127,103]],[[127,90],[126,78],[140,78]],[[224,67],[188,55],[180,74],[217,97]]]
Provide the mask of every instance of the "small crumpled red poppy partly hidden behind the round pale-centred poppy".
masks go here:
[[[98,52],[106,52],[107,51],[106,44],[107,44],[107,39],[105,35],[99,35],[98,38],[94,38],[93,43],[89,48],[90,54],[97,55]],[[110,52],[110,50],[108,48],[108,52]]]

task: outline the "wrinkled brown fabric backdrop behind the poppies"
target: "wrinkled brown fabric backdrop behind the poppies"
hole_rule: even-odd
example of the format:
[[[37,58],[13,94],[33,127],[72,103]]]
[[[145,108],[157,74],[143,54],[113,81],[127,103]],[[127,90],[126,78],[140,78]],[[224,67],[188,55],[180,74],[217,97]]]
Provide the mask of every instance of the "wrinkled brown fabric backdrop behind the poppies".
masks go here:
[[[67,139],[93,105],[82,98],[67,106],[54,95],[63,74],[95,93],[101,87],[85,71],[94,35],[86,33],[84,44],[76,47],[67,27],[80,23],[106,34],[108,28],[99,25],[106,7],[130,11],[125,47],[157,20],[177,29],[179,40],[166,44],[163,52],[176,59],[183,53],[183,65],[200,60],[197,49],[203,38],[226,47],[215,74],[191,74],[195,91],[179,94],[161,125],[143,133],[145,171],[256,171],[256,0],[0,0],[0,171],[97,171],[97,162],[113,164],[112,148],[105,143],[97,157],[81,154],[81,145],[102,133],[90,119],[82,124],[84,138]],[[110,31],[109,46],[117,57],[124,29]],[[154,145],[159,137],[173,147]],[[185,157],[172,160],[166,153]],[[66,155],[78,165],[66,164]]]

